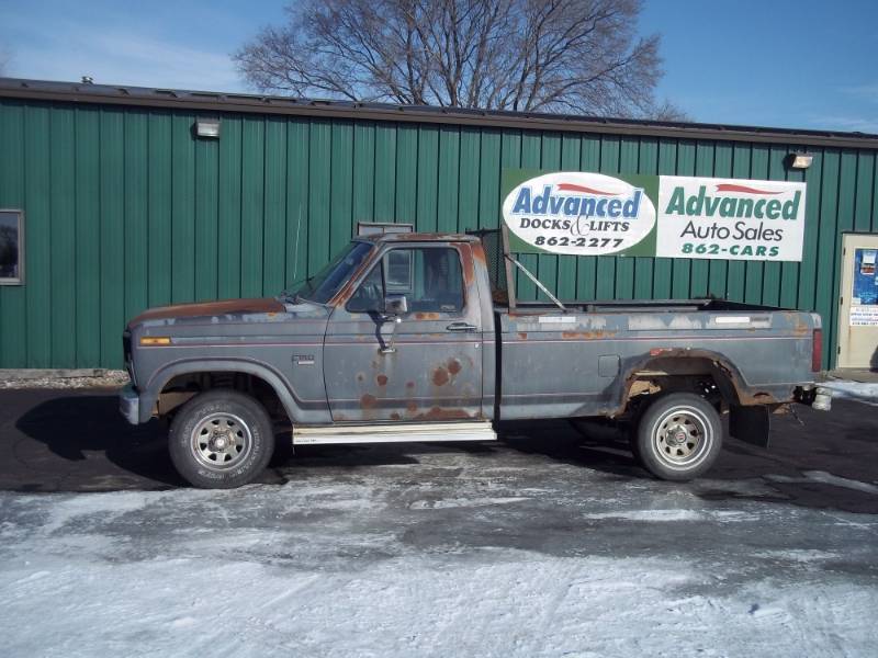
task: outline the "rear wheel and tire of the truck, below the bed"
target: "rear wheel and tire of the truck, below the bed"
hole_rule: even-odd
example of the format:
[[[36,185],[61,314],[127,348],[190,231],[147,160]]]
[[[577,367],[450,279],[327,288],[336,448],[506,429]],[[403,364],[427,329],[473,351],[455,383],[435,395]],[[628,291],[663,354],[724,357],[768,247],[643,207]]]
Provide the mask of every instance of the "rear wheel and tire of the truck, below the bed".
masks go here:
[[[660,479],[687,481],[710,469],[722,450],[722,420],[702,397],[672,393],[640,417],[632,452]]]

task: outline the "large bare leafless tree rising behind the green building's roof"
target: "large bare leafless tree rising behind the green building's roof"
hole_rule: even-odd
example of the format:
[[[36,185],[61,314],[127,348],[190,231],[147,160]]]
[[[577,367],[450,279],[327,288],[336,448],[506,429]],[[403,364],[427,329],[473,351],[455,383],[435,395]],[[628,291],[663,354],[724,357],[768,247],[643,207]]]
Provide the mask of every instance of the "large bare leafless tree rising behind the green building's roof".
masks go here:
[[[679,118],[656,105],[642,0],[303,0],[234,59],[261,91],[521,112]]]

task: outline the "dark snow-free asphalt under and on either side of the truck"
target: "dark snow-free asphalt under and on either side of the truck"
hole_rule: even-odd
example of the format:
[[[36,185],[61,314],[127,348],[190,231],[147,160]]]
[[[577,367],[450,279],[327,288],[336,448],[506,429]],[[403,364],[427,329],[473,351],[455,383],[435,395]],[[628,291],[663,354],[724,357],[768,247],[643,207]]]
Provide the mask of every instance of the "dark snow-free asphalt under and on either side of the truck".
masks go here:
[[[829,413],[799,407],[798,418],[772,419],[772,445],[763,450],[727,440],[711,481],[758,480],[759,498],[814,509],[878,513],[878,407],[834,400]],[[116,411],[115,392],[19,389],[0,392],[0,490],[164,490],[187,486],[173,470],[159,421],[127,424]],[[261,478],[281,485],[307,470],[371,469],[417,463],[418,453],[477,455],[502,466],[521,455],[536,463],[581,466],[614,478],[654,483],[634,464],[621,436],[596,426],[587,436],[566,422],[504,428],[497,443],[441,445],[306,446],[277,456]],[[685,486],[685,485],[684,485]],[[767,494],[766,494],[767,491]],[[728,490],[703,490],[717,500]]]

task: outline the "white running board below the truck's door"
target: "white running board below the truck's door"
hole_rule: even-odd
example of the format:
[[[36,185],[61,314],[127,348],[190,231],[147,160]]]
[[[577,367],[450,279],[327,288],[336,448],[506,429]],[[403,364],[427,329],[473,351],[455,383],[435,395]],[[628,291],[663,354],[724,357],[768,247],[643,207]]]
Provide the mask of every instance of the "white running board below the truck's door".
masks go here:
[[[294,427],[293,445],[496,441],[491,422]]]

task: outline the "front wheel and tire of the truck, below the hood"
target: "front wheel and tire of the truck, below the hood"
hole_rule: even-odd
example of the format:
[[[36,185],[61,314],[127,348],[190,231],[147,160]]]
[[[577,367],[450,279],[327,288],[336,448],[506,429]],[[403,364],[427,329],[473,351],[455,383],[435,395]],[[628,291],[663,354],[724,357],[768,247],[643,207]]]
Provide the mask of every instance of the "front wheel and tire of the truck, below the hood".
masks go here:
[[[271,419],[237,390],[196,395],[171,422],[168,447],[177,472],[203,489],[234,489],[256,479],[274,452]]]

